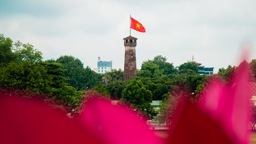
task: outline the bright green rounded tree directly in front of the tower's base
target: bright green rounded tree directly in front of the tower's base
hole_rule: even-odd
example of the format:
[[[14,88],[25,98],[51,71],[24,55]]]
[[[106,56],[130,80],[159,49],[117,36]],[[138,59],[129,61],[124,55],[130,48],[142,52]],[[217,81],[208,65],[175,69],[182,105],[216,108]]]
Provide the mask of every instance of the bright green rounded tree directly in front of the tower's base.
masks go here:
[[[122,91],[122,98],[119,103],[125,105],[131,110],[136,110],[138,114],[146,120],[156,116],[157,112],[151,107],[152,93],[143,87],[140,80],[132,79],[126,88]]]

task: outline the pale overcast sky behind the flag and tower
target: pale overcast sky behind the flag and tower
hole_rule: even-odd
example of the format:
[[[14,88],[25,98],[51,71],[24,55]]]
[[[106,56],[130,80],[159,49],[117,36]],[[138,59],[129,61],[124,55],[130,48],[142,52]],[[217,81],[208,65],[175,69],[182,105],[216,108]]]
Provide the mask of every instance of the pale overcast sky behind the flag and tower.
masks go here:
[[[93,69],[101,57],[124,69],[130,14],[146,28],[131,30],[138,69],[157,55],[174,66],[194,55],[217,73],[237,65],[242,44],[256,46],[255,0],[0,0],[0,33],[29,42],[44,60],[73,55]]]

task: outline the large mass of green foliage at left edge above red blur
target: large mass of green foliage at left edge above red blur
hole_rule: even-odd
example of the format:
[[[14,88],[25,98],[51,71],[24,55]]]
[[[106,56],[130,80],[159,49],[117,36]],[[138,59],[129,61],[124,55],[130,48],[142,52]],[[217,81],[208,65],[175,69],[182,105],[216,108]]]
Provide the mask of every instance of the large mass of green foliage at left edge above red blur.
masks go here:
[[[42,99],[45,104],[70,112],[81,102],[81,91],[65,83],[62,64],[42,61],[42,53],[31,44],[0,35],[0,93],[21,98]]]

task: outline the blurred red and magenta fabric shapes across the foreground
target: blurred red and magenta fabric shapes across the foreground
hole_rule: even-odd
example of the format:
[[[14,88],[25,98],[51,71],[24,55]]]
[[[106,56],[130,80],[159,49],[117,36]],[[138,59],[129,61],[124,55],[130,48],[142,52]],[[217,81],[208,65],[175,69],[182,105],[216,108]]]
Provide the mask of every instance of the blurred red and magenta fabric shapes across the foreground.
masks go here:
[[[166,140],[155,136],[133,112],[99,100],[88,102],[72,122],[36,102],[1,99],[0,143],[246,144],[246,72],[246,67],[240,69],[232,88],[212,84],[199,104],[183,100]]]

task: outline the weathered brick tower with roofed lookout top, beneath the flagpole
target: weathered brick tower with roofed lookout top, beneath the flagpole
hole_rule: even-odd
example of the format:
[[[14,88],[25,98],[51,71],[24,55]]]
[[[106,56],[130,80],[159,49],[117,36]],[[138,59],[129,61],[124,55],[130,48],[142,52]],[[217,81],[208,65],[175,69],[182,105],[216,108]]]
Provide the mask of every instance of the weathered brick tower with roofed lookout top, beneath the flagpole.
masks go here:
[[[136,44],[138,38],[128,36],[124,40],[124,81],[137,77],[136,68]]]

